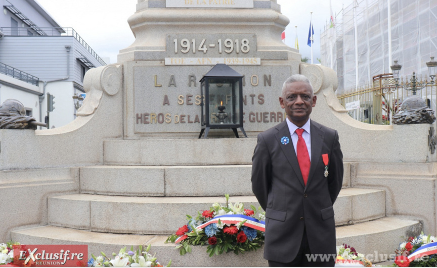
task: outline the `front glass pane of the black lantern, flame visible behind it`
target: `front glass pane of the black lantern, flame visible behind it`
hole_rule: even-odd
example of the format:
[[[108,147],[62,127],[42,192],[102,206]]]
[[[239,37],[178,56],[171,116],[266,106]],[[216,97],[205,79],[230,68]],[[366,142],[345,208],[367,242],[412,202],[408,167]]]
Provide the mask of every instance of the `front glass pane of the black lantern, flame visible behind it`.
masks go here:
[[[210,78],[208,84],[210,124],[240,124],[239,80]]]

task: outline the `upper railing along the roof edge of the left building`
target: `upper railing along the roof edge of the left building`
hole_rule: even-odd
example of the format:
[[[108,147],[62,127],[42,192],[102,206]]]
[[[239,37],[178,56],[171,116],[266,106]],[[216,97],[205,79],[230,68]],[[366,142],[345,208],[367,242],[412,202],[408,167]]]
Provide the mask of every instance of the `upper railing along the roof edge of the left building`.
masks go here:
[[[102,58],[97,55],[97,53],[88,45],[88,43],[85,42],[85,40],[80,37],[80,35],[73,29],[73,28],[64,28],[64,27],[57,27],[57,28],[38,28],[41,30],[42,33],[35,32],[30,27],[0,27],[0,31],[3,32],[5,36],[73,36],[74,39],[76,39],[83,47],[88,50],[88,52],[93,55],[94,58],[101,64],[106,65],[106,63],[102,60]]]

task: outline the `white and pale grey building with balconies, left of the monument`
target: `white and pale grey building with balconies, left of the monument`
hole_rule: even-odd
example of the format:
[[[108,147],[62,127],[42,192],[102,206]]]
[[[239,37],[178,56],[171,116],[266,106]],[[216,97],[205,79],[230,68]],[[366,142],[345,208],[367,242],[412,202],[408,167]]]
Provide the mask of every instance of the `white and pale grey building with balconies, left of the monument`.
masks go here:
[[[20,100],[44,122],[47,93],[55,96],[50,127],[75,118],[72,96],[84,93],[83,76],[106,65],[72,28],[61,27],[34,0],[0,0],[0,103]]]

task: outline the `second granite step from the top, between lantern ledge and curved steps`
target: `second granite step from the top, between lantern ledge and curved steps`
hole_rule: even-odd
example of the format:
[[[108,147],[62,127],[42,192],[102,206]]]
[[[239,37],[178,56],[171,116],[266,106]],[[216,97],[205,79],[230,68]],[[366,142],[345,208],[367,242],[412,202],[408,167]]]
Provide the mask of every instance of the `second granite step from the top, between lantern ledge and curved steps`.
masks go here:
[[[345,163],[344,168],[343,188],[347,188],[351,185],[349,163]],[[122,196],[252,195],[251,172],[252,165],[81,167],[80,193]]]

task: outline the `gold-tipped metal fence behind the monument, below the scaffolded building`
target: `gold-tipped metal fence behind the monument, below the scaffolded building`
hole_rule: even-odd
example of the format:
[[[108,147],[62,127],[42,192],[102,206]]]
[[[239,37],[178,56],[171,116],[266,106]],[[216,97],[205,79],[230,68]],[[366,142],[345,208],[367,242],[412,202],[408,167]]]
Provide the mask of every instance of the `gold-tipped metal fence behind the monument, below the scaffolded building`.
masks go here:
[[[426,76],[417,79],[419,86],[429,82]],[[380,74],[373,77],[367,85],[352,87],[337,95],[341,105],[346,108],[349,116],[354,119],[376,125],[390,124],[390,118],[401,108],[402,101],[412,95],[411,90],[402,86],[410,81],[409,77],[401,78],[399,85],[392,74]],[[426,105],[436,111],[436,83],[428,84],[416,92],[422,97]]]

